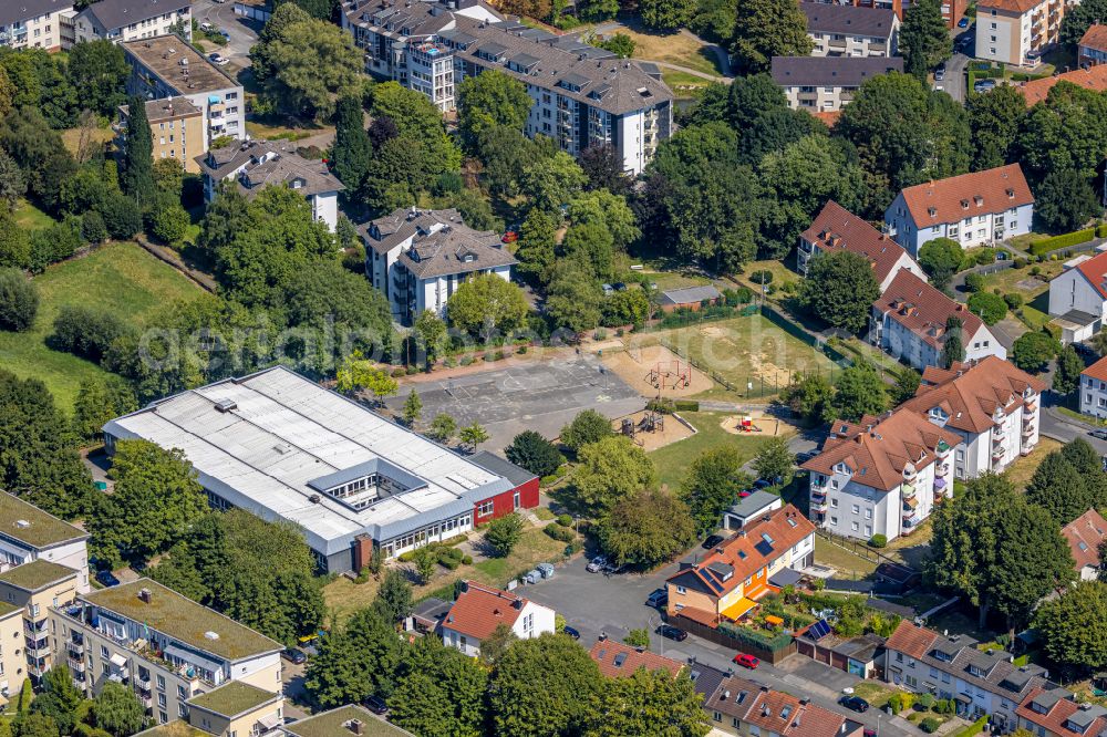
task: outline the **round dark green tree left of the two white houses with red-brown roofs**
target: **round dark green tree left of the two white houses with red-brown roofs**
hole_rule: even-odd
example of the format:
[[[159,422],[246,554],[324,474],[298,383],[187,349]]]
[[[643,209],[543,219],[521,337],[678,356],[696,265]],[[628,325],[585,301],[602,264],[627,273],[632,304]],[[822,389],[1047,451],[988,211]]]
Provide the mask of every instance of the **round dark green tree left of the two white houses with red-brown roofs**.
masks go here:
[[[837,250],[813,259],[800,286],[800,299],[813,314],[852,333],[869,324],[880,284],[863,256]]]

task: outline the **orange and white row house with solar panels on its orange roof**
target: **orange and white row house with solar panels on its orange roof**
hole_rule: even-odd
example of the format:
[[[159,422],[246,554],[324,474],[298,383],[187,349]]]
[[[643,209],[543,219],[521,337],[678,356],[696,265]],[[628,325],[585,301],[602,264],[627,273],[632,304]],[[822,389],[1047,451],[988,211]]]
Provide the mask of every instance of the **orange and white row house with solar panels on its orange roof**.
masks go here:
[[[778,591],[774,577],[815,561],[815,526],[790,504],[746,523],[703,560],[683,561],[665,581],[670,616],[710,626],[737,621]],[[790,579],[790,577],[789,577]]]

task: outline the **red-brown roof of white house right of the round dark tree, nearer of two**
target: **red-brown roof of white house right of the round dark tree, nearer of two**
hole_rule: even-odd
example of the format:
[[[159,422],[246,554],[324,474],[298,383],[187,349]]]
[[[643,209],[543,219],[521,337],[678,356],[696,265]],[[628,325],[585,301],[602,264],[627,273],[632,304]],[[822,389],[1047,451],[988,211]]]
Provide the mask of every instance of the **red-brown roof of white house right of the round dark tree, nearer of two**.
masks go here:
[[[968,307],[946,297],[907,269],[900,269],[896,273],[888,289],[872,307],[939,351],[945,344],[945,323],[950,318],[961,319],[965,342],[984,325]]]

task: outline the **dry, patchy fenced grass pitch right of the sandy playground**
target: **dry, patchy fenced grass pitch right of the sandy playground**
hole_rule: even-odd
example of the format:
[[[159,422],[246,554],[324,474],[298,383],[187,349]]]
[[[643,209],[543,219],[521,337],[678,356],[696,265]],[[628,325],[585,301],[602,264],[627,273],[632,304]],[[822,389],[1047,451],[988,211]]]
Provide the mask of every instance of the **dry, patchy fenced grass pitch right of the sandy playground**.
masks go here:
[[[701,370],[710,370],[734,387],[716,386],[697,395],[701,398],[772,396],[787,386],[796,373],[818,371],[829,377],[831,371],[840,371],[823,353],[759,314],[658,331],[644,336],[643,345],[651,341],[664,342]],[[748,384],[753,384],[752,390],[747,390]]]

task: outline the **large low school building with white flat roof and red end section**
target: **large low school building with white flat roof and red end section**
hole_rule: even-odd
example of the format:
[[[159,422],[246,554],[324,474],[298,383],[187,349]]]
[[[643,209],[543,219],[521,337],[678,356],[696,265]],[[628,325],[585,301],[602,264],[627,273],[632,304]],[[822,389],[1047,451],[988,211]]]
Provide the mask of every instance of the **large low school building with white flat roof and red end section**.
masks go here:
[[[360,571],[374,548],[392,558],[538,506],[537,484],[514,484],[282,366],[104,426],[110,454],[134,438],[184,450],[216,508],[301,527],[333,573]]]

